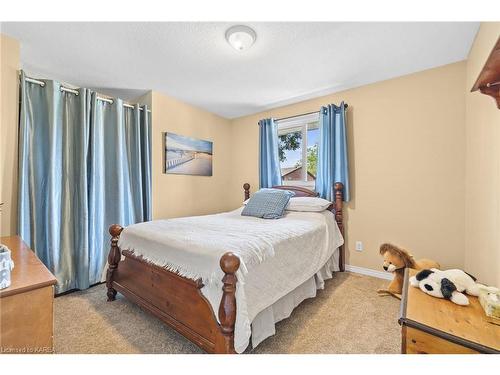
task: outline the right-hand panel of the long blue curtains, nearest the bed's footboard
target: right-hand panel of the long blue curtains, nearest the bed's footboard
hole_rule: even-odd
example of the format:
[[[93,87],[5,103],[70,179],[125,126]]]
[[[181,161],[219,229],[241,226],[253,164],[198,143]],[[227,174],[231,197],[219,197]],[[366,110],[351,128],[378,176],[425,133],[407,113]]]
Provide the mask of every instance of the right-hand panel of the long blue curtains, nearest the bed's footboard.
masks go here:
[[[151,147],[147,107],[127,108],[92,93],[89,137],[90,284],[101,280],[108,228],[151,220]]]

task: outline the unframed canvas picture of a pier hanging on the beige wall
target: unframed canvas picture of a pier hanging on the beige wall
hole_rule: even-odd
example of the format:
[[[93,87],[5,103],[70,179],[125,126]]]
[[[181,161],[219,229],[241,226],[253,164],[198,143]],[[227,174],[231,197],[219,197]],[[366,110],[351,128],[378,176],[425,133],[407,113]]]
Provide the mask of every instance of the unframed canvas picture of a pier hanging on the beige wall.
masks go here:
[[[212,176],[212,142],[168,132],[163,137],[163,173]]]

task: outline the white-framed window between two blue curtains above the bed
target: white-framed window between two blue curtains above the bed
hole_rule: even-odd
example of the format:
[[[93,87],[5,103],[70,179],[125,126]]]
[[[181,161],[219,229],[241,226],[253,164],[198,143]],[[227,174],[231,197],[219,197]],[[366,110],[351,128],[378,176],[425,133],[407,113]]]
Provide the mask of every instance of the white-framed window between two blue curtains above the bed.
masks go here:
[[[318,113],[277,121],[283,185],[314,190],[318,166]]]

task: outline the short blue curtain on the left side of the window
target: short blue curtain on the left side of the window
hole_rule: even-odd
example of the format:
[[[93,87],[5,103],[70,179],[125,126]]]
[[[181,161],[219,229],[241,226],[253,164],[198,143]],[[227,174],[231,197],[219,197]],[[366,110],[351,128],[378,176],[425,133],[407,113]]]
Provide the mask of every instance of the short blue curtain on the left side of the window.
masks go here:
[[[259,185],[281,185],[278,127],[273,119],[259,121]]]

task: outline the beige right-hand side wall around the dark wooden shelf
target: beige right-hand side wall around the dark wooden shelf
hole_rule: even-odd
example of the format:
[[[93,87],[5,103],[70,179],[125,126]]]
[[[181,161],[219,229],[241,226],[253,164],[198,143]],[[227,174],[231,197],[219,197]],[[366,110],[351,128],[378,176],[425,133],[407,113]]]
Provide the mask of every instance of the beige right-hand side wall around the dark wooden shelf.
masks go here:
[[[500,36],[500,23],[482,23],[467,60],[465,268],[500,286],[500,110],[470,93]]]

